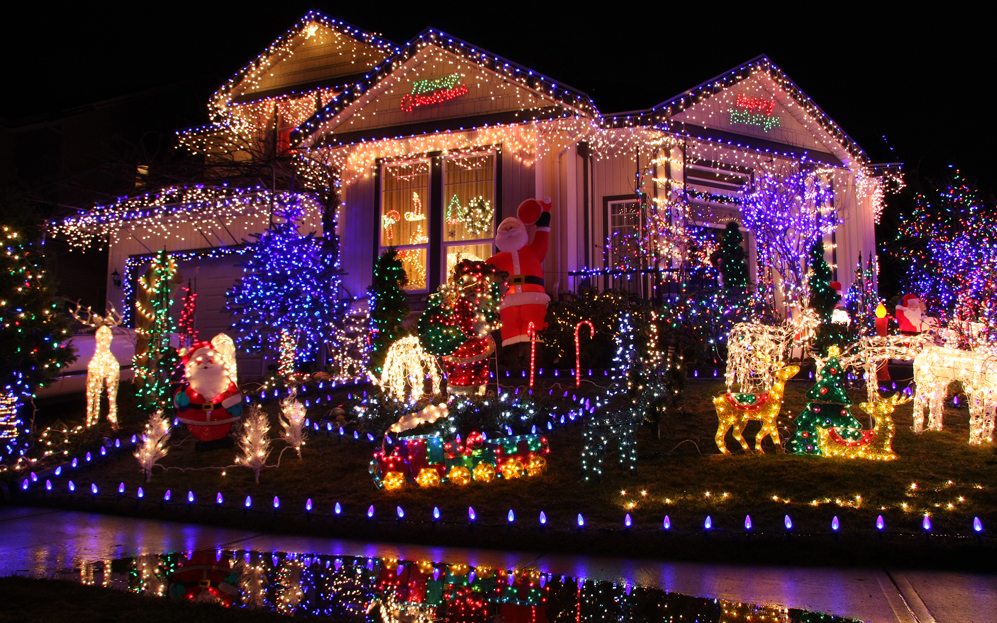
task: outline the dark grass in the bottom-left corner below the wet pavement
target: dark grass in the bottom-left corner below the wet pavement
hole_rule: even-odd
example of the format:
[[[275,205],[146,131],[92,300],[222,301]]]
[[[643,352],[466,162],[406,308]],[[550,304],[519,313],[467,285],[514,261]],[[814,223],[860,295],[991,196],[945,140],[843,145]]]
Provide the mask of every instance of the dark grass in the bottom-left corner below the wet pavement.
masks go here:
[[[136,595],[103,586],[86,586],[68,580],[0,577],[4,604],[0,621],[48,623],[50,621],[101,621],[108,623],[266,623],[286,621],[269,610],[224,609],[213,603],[190,603]]]

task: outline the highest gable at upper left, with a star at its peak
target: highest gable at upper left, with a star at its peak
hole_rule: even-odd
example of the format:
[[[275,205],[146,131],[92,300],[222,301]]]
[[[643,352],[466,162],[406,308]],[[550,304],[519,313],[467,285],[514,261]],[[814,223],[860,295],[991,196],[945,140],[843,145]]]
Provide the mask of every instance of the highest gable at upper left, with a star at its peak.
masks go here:
[[[361,74],[387,58],[390,51],[359,41],[321,22],[310,21],[303,24],[268,63],[247,72],[232,88],[231,95],[238,102],[283,95],[296,86],[307,89],[322,83],[356,82]]]

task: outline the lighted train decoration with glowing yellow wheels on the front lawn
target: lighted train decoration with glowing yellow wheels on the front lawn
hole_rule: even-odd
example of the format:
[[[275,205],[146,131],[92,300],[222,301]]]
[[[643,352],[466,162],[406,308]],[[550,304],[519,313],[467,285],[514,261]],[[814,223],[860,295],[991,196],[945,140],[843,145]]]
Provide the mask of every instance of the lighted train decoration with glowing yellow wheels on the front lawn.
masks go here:
[[[370,471],[378,487],[397,489],[406,482],[435,486],[443,482],[468,484],[535,476],[547,467],[550,448],[540,435],[488,438],[471,433],[445,442],[439,435],[393,440],[385,436],[374,452]]]

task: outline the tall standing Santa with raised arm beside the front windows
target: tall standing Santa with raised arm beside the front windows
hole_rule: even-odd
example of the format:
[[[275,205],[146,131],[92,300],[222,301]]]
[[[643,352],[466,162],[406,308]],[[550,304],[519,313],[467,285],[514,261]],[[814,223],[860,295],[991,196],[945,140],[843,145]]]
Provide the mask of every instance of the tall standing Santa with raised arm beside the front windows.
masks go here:
[[[526,199],[516,216],[498,223],[498,253],[486,260],[508,273],[508,288],[501,299],[501,345],[529,341],[529,323],[540,331],[546,327],[550,297],[543,288],[543,258],[550,240],[550,197]],[[533,242],[527,227],[535,225]]]

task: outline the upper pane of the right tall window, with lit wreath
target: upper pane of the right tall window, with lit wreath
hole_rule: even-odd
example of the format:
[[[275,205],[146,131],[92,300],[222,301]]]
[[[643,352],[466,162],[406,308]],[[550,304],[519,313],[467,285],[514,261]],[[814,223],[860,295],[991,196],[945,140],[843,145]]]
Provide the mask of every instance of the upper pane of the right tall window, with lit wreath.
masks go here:
[[[495,167],[494,154],[444,160],[445,240],[483,240],[495,235]]]

